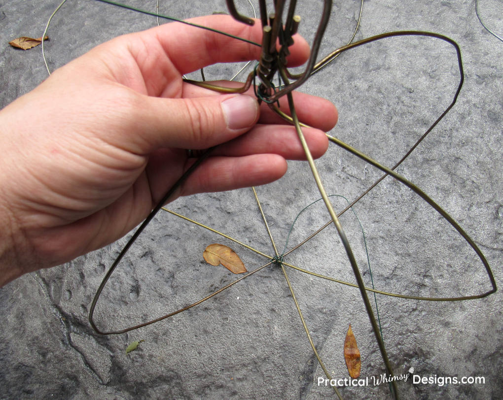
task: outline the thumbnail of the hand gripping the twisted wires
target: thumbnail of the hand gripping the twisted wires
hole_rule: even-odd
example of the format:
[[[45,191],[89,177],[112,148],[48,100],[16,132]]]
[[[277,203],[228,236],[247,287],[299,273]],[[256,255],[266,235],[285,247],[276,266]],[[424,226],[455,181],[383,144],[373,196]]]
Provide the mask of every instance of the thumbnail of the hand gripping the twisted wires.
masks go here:
[[[251,127],[257,119],[259,105],[255,98],[246,94],[228,98],[221,105],[229,129]]]

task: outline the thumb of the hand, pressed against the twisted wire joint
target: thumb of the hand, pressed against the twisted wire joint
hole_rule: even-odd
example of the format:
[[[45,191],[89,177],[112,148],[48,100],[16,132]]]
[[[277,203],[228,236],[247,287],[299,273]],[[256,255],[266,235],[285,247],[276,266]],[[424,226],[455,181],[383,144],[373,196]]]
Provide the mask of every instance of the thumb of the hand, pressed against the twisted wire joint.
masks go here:
[[[142,96],[143,97],[143,96]],[[145,101],[146,99],[146,101]],[[248,131],[259,119],[259,104],[246,94],[193,98],[144,96],[137,121],[144,122],[140,149],[204,149]]]

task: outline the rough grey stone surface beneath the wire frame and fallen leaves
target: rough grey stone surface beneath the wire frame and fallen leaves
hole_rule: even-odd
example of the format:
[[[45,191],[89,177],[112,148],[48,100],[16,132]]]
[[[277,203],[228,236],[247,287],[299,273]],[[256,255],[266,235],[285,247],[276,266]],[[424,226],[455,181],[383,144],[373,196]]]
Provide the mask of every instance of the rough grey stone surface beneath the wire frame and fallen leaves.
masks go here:
[[[300,27],[312,40],[321,2],[301,2]],[[315,3],[315,4],[314,4]],[[321,54],[345,43],[358,2],[334,5]],[[480,2],[485,22],[503,33],[501,2]],[[40,48],[17,51],[15,37],[41,36],[59,0],[0,2],[1,105],[46,77]],[[134,2],[155,10],[155,2]],[[239,10],[250,15],[241,1]],[[314,4],[314,5],[313,5]],[[160,2],[167,15],[188,18],[224,11],[222,1]],[[68,0],[49,30],[51,68],[119,34],[146,29],[155,18],[94,1]],[[479,24],[473,1],[366,1],[357,39],[420,29],[461,46],[465,84],[458,103],[398,172],[420,185],[471,235],[501,281],[501,60],[503,43]],[[207,68],[225,78],[236,65]],[[444,42],[396,38],[343,54],[302,87],[331,99],[340,122],[331,132],[393,165],[450,103],[459,79]],[[297,107],[302,107],[298,104]],[[330,148],[317,163],[330,194],[355,198],[380,174]],[[280,181],[258,187],[274,238],[282,248],[296,214],[319,195],[306,164],[291,162]],[[343,201],[334,199],[340,209]],[[251,189],[182,198],[172,209],[272,254]],[[477,294],[490,288],[481,263],[439,216],[387,178],[355,211],[365,229],[377,288],[413,295]],[[290,246],[327,221],[321,204],[299,219]],[[342,222],[370,284],[354,216]],[[78,238],[75,238],[78,240]],[[26,275],[0,289],[0,398],[329,398],[292,296],[277,268],[265,269],[210,301],[147,328],[100,336],[87,318],[104,273],[126,239],[66,265]],[[227,239],[159,214],[111,278],[97,307],[103,329],[121,328],[176,310],[234,279],[202,258]],[[264,259],[230,244],[254,269]],[[312,271],[354,281],[333,229],[287,259]],[[362,353],[362,377],[384,372],[357,289],[289,272],[306,323],[327,368],[344,378],[349,323]],[[402,398],[501,398],[501,292],[484,299],[434,303],[377,296],[384,341],[398,374],[483,376],[485,384],[399,382]],[[128,343],[143,339],[125,354]],[[372,382],[372,381],[371,381]],[[385,384],[343,388],[345,398],[386,398]]]

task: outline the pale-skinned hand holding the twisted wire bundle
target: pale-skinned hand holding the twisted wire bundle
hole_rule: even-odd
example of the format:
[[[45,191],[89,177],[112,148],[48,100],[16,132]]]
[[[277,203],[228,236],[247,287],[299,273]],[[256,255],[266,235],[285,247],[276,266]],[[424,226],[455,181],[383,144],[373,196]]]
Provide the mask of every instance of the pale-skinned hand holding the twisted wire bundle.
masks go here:
[[[193,21],[261,42],[260,24]],[[295,36],[291,53],[289,65],[300,65],[309,47]],[[0,111],[0,286],[124,236],[194,162],[185,149],[219,145],[171,200],[269,183],[286,172],[286,159],[304,159],[295,129],[253,91],[218,94],[182,80],[216,62],[259,57],[257,46],[166,24],[94,48]],[[337,110],[295,94],[319,157]]]

